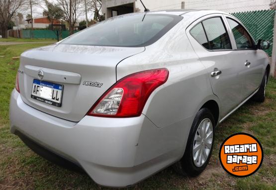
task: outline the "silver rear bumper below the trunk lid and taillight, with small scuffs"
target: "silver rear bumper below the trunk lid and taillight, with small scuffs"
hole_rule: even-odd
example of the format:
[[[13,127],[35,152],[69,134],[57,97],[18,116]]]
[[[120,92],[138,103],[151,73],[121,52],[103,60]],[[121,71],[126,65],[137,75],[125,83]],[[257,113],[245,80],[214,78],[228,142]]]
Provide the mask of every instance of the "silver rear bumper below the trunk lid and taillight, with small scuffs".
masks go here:
[[[164,132],[147,117],[60,119],[25,104],[13,90],[10,131],[80,165],[99,185],[133,185],[179,160],[184,146],[164,147]],[[172,141],[175,142],[174,137]],[[185,143],[184,143],[185,144]]]

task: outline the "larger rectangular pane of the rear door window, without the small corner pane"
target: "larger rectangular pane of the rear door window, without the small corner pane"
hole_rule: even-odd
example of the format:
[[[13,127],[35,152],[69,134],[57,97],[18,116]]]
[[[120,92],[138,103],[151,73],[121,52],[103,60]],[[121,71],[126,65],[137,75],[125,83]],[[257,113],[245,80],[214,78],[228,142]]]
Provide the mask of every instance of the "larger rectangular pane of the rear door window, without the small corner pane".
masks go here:
[[[213,17],[202,21],[209,41],[209,49],[232,49],[231,43],[220,17]]]

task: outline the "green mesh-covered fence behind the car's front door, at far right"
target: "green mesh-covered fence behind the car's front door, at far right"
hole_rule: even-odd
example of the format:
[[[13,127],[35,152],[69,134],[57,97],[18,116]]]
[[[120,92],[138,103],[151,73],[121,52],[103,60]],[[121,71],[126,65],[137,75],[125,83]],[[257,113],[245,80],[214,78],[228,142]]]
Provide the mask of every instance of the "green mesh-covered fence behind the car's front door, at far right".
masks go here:
[[[231,14],[245,25],[256,42],[258,39],[265,39],[271,42],[271,47],[266,50],[269,56],[271,56],[275,10],[256,10]]]

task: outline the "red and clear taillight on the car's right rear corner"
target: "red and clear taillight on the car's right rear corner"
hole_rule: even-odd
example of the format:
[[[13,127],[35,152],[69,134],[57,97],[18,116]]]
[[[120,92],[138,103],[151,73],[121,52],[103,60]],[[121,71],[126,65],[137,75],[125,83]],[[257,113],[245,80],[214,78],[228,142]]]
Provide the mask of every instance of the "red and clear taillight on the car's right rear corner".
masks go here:
[[[87,115],[98,117],[140,116],[151,93],[169,76],[166,68],[142,71],[116,82],[92,106]]]

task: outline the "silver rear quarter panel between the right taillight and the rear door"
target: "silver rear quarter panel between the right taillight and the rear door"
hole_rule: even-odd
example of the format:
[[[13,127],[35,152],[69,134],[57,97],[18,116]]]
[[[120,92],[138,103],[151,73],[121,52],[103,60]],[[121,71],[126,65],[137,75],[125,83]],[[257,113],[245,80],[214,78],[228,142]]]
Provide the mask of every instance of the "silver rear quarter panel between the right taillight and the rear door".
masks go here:
[[[166,36],[146,46],[144,52],[117,65],[118,79],[143,70],[169,69],[168,81],[152,94],[154,98],[148,101],[143,110],[143,114],[158,127],[194,116],[194,105],[213,94],[205,67],[188,42],[184,25],[183,19]],[[190,126],[186,126],[188,131]]]

